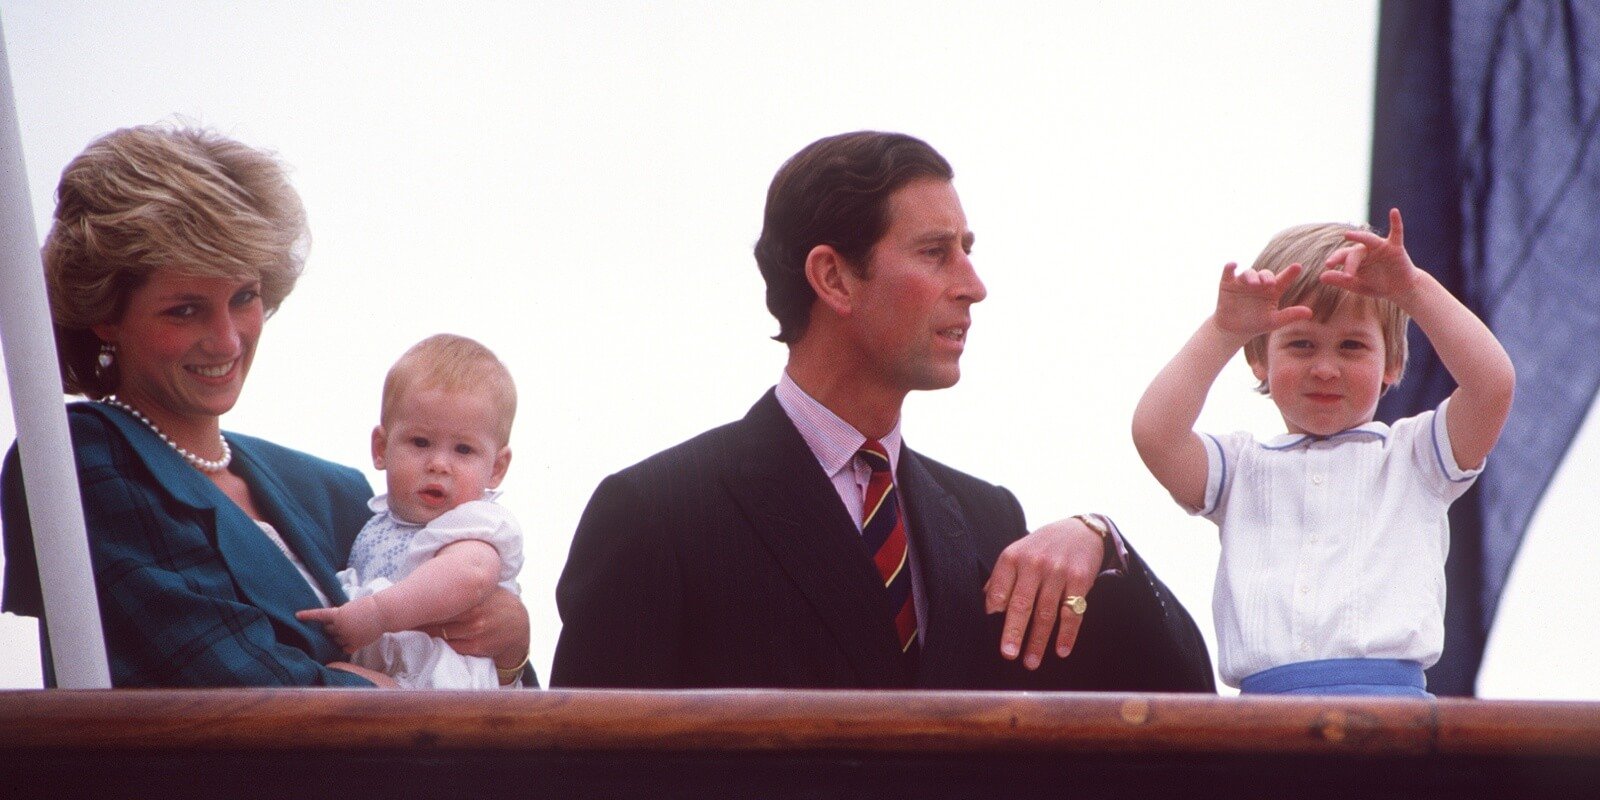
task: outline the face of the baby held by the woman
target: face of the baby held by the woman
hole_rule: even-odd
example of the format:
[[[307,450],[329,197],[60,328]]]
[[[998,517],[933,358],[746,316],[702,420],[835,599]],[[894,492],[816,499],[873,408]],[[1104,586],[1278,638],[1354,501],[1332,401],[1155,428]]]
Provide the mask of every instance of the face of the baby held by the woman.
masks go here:
[[[485,392],[410,389],[389,426],[373,429],[373,466],[389,478],[389,510],[426,525],[483,490],[499,486],[510,448],[499,445],[498,411]]]

